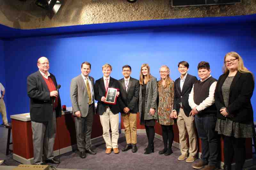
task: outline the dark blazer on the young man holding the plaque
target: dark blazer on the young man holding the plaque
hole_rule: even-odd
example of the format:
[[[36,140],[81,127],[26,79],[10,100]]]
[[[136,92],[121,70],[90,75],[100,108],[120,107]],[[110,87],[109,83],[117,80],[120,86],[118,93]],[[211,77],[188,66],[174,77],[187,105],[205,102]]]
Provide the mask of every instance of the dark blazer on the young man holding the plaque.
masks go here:
[[[108,87],[120,89],[120,84],[119,84],[118,80],[116,80],[115,78],[110,77]],[[110,108],[110,110],[113,114],[119,113],[120,112],[119,104],[120,104],[120,95],[121,94],[117,97],[115,105],[105,104],[104,102],[101,101],[101,97],[105,96],[105,94],[106,94],[106,90],[105,90],[104,80],[103,80],[103,77],[102,77],[102,78],[96,80],[95,86],[94,86],[95,100],[98,101],[97,113],[99,115],[103,115],[103,113],[107,109],[107,106]]]

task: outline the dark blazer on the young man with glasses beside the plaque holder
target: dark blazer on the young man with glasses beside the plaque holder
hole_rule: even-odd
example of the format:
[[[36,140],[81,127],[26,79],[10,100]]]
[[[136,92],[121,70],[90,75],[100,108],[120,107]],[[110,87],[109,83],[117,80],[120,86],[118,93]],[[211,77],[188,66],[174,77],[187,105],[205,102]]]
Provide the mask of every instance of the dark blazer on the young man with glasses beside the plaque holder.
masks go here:
[[[120,83],[120,93],[121,93],[121,113],[124,113],[124,107],[130,109],[130,113],[137,113],[139,111],[138,100],[139,100],[139,80],[135,78],[130,78],[128,89],[126,92],[124,78],[118,80]]]

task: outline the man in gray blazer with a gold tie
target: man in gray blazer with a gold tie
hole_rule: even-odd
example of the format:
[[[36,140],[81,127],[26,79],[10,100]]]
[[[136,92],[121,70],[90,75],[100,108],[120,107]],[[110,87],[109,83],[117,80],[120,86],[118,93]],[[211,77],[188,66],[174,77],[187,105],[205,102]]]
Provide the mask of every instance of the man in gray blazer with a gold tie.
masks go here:
[[[91,149],[92,122],[95,114],[94,78],[89,76],[91,64],[82,63],[81,72],[71,81],[70,98],[75,116],[77,147],[80,157],[85,158],[86,152],[92,155],[96,154]]]

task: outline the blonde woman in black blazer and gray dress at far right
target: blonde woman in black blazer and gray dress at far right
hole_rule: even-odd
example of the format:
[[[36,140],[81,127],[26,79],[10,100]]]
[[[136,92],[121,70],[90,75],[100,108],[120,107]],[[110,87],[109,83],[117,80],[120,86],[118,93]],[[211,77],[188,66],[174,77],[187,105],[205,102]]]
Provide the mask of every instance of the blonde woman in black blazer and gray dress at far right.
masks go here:
[[[235,152],[236,170],[241,170],[245,160],[245,138],[253,137],[254,78],[236,52],[225,55],[224,69],[214,94],[218,110],[215,130],[223,135],[224,169],[231,170]]]

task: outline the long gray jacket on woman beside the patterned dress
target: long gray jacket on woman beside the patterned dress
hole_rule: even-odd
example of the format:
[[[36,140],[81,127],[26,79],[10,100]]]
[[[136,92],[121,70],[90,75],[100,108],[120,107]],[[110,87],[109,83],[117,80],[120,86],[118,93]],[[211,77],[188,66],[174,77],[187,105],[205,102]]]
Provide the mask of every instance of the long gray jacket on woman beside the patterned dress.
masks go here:
[[[141,117],[141,110],[142,110],[142,85],[140,85],[140,92],[139,92],[139,112]],[[146,98],[145,98],[145,115],[144,120],[150,120],[150,119],[157,119],[157,100],[158,92],[157,92],[157,82],[156,78],[151,76],[150,80],[147,83],[147,89],[146,89]],[[149,114],[150,108],[155,109],[155,115],[151,116]]]

